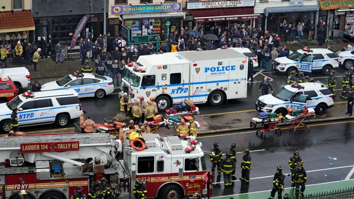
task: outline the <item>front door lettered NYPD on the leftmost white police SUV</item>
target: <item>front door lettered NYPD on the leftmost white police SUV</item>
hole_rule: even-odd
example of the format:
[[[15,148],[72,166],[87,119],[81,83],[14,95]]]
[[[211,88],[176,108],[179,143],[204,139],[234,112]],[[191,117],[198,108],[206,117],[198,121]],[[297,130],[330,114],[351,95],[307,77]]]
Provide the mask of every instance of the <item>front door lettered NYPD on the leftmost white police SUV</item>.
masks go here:
[[[17,112],[17,121],[20,125],[26,124],[35,124],[35,108],[34,108],[34,100],[28,99],[24,103],[22,103],[18,108],[22,108],[23,110],[18,110]]]

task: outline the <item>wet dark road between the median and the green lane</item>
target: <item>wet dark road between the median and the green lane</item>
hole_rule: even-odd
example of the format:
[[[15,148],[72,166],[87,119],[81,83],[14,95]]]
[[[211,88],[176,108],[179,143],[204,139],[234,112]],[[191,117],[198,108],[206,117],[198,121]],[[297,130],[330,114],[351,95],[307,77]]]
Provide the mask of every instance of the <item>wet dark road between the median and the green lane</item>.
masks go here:
[[[249,186],[241,185],[240,181],[236,181],[233,187],[224,188],[222,175],[221,179],[216,176],[213,197],[272,189],[276,166],[281,166],[283,173],[289,174],[288,161],[294,150],[299,151],[304,161],[304,169],[307,171],[306,184],[346,179],[350,170],[354,170],[353,128],[354,121],[344,121],[337,124],[316,124],[310,126],[310,132],[297,131],[295,135],[288,129],[284,129],[281,135],[270,131],[265,132],[262,138],[256,136],[255,131],[201,136],[198,141],[202,142],[205,151],[210,151],[214,142],[221,144],[220,149],[223,154],[228,152],[232,143],[236,143],[236,152],[242,152],[244,148],[249,148],[251,151],[258,150],[250,152],[252,169]],[[236,157],[237,179],[241,177],[242,156],[243,153],[238,153]],[[208,152],[205,152],[205,160],[209,169],[211,163]],[[329,165],[330,163],[333,165]],[[353,178],[354,176],[349,176],[347,179]],[[220,181],[221,183],[218,183]],[[285,187],[290,186],[291,177],[286,175]]]

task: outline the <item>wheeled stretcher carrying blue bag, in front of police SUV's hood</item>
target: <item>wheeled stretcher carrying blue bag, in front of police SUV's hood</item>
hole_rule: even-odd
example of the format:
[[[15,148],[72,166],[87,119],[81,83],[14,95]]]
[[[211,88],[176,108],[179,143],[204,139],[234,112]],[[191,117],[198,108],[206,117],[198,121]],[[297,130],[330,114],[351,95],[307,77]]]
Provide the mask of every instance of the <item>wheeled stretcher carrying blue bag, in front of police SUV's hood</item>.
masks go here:
[[[270,129],[275,129],[280,131],[281,135],[281,129],[279,128],[280,122],[283,121],[283,116],[282,115],[277,115],[276,118],[265,118],[265,119],[260,119],[260,118],[252,118],[250,121],[250,127],[253,129],[256,129],[258,125],[261,125],[262,127],[257,129],[256,135],[258,135],[258,132],[261,132],[261,137],[263,137],[263,133],[266,131],[270,131]]]

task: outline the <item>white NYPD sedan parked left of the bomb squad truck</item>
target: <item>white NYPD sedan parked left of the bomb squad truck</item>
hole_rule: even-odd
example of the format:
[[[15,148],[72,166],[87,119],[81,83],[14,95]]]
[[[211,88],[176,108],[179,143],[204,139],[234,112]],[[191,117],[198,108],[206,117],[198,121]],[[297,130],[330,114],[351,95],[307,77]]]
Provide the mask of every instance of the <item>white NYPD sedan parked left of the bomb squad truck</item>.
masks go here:
[[[79,97],[103,98],[114,91],[112,78],[91,73],[80,73],[82,75],[67,75],[57,81],[42,85],[42,91],[58,89],[74,89]]]

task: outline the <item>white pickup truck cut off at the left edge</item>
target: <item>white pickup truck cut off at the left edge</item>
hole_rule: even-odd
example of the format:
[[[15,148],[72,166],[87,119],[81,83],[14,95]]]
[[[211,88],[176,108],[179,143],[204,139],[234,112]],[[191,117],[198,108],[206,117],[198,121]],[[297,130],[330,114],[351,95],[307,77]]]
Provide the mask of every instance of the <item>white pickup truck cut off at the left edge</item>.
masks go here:
[[[32,86],[31,75],[25,67],[4,68],[0,69],[0,73],[4,73],[11,78],[16,86],[17,94],[22,92],[22,89]]]

